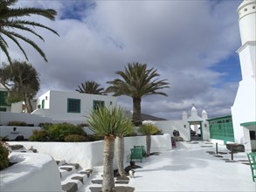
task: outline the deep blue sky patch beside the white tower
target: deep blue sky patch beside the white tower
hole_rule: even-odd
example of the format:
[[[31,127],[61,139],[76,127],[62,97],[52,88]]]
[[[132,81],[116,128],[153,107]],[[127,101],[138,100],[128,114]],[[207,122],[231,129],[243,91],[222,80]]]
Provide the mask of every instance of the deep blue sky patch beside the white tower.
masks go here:
[[[242,79],[239,55],[235,53],[217,65],[211,66],[210,69],[222,74],[218,84],[215,85],[218,87],[225,83],[239,82]]]

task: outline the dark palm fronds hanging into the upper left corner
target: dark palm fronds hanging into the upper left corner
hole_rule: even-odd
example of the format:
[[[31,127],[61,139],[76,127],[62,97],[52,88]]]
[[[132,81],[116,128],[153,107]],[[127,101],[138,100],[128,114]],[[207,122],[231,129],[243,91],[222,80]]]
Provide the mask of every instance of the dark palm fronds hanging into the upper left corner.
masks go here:
[[[45,41],[44,38],[42,38],[40,35],[38,35],[37,32],[33,30],[34,27],[41,27],[45,28],[48,31],[52,31],[56,35],[59,36],[58,32],[52,30],[51,28],[45,26],[44,24],[39,24],[37,22],[33,22],[30,20],[27,20],[24,17],[31,16],[31,15],[39,15],[42,17],[49,18],[50,20],[54,20],[56,16],[56,11],[52,9],[40,9],[40,8],[14,8],[12,7],[15,3],[17,3],[17,0],[1,0],[0,1],[0,47],[3,53],[8,58],[10,64],[10,54],[8,51],[8,43],[3,38],[3,35],[7,38],[10,38],[17,46],[18,48],[23,52],[24,57],[28,60],[28,57],[22,48],[22,46],[19,44],[17,39],[21,39],[24,42],[31,45],[38,53],[47,61],[45,57],[45,52],[42,51],[38,45],[32,41],[30,38],[26,38],[24,35],[17,33],[17,31],[27,31],[30,34],[35,35],[36,37],[40,38],[41,40]]]

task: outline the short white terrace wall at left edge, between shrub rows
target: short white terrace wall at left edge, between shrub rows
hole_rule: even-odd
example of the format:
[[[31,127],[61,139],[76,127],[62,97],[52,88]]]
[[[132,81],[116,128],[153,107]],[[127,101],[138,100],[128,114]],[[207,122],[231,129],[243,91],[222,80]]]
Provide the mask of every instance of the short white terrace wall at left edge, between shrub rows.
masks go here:
[[[16,127],[16,131],[14,131]],[[40,127],[19,127],[19,126],[0,126],[0,137],[7,136],[9,140],[14,140],[18,135],[23,135],[24,139],[28,139],[33,130],[39,130]]]

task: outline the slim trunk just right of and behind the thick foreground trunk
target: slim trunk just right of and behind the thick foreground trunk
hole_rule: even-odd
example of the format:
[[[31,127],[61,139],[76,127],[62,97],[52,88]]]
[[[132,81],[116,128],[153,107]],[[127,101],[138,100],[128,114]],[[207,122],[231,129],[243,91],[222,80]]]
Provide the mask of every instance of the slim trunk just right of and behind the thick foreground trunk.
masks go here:
[[[119,135],[115,139],[116,141],[116,154],[117,154],[117,164],[118,164],[118,173],[121,176],[125,176],[124,171],[124,139],[123,135]]]

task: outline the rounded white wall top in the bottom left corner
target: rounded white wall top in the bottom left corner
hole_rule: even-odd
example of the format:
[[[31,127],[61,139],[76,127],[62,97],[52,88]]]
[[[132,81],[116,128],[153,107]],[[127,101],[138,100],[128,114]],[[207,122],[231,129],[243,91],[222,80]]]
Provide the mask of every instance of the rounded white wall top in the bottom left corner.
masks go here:
[[[0,171],[1,191],[62,191],[56,161],[47,154],[10,154],[12,160],[23,160]]]

